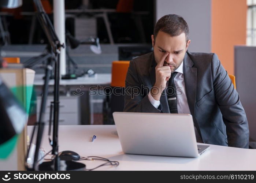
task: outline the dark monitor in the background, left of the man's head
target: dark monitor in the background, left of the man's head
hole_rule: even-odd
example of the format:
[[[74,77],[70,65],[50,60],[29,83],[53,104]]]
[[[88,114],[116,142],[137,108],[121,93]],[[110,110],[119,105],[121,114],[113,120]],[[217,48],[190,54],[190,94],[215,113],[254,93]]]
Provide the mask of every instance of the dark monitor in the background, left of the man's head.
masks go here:
[[[138,56],[152,52],[153,47],[148,46],[119,46],[118,47],[118,60],[131,60]]]

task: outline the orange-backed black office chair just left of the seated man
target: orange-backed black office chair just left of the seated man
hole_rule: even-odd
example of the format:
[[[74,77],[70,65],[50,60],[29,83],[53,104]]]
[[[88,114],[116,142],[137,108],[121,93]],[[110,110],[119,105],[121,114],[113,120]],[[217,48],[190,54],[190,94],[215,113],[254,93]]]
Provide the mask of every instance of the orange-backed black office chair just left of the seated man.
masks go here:
[[[125,105],[125,78],[130,61],[113,61],[111,87],[105,89],[103,102],[103,124],[115,124],[113,112],[123,112]],[[113,90],[114,89],[114,90]]]

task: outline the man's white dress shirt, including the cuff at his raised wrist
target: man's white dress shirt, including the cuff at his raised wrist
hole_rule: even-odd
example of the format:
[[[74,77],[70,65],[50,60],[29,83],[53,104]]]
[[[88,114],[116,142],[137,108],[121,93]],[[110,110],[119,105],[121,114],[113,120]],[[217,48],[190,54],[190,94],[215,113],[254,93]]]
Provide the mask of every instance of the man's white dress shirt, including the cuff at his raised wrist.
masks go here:
[[[181,65],[175,70],[175,72],[178,72],[177,75],[174,78],[175,87],[178,87],[177,92],[177,107],[178,107],[178,113],[179,114],[190,114],[189,105],[188,105],[188,99],[186,96],[186,90],[185,90],[185,81],[184,81],[184,74],[183,74],[183,61]],[[148,93],[148,99],[151,102],[151,104],[158,108],[160,105],[159,100],[155,100],[151,93]]]

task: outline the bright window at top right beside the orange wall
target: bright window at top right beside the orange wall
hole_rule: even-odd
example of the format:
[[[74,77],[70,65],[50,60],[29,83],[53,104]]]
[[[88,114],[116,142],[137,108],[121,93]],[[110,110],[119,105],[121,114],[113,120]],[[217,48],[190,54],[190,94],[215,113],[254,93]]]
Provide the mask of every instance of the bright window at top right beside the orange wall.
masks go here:
[[[256,0],[247,0],[246,45],[256,46]]]

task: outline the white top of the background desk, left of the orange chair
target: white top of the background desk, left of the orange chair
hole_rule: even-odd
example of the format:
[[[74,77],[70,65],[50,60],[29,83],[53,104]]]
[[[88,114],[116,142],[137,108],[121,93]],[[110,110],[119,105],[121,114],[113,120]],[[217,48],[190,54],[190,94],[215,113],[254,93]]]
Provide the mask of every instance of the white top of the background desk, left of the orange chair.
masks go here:
[[[36,74],[34,85],[44,85],[44,74]],[[61,79],[60,85],[110,85],[111,74],[95,74],[94,77],[88,77],[88,75],[79,77],[77,79]],[[54,85],[54,80],[49,81],[49,85]]]

